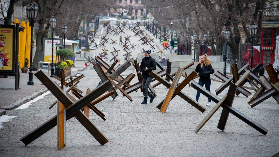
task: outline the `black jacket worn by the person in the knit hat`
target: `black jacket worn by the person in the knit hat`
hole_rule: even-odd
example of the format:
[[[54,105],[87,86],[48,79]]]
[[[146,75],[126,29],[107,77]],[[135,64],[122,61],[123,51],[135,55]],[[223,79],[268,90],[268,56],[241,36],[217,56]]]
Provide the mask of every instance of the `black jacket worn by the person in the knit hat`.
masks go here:
[[[144,70],[145,67],[148,68],[147,71]],[[149,73],[151,73],[152,70],[156,70],[156,68],[155,59],[149,55],[148,57],[144,57],[142,59],[142,63],[140,63],[139,66],[139,71],[142,72],[142,77],[151,77]]]

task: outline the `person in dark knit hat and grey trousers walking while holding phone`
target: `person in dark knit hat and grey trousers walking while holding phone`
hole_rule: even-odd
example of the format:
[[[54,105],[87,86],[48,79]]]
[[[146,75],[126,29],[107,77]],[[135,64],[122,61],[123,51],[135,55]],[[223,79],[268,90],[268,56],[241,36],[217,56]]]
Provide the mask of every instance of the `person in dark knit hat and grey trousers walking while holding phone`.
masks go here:
[[[155,96],[148,91],[148,86],[153,79],[153,77],[151,77],[149,74],[152,70],[156,70],[156,61],[150,56],[150,53],[150,49],[145,51],[145,57],[142,59],[139,71],[137,72],[142,72],[142,89],[144,90],[144,101],[141,104],[147,104],[147,96],[150,97],[150,103],[152,103],[155,98]]]

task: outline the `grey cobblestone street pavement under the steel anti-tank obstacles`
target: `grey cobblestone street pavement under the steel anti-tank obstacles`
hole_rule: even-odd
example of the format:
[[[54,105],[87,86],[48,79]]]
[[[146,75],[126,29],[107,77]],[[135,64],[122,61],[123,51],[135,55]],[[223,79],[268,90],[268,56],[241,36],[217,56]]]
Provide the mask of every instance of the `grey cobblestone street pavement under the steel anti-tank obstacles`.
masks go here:
[[[130,72],[125,71],[123,76]],[[97,86],[100,79],[94,70],[87,68],[81,73],[85,77],[78,84],[79,89],[86,91]],[[133,83],[136,80],[134,78]],[[212,91],[221,84],[212,81]],[[90,111],[90,120],[109,139],[103,146],[75,118],[67,121],[67,146],[60,151],[56,148],[56,127],[27,146],[19,141],[56,114],[56,106],[48,109],[55,101],[52,94],[32,103],[27,109],[9,110],[6,115],[17,118],[2,124],[1,156],[271,156],[279,151],[279,105],[273,98],[254,108],[247,104],[251,96],[236,96],[233,103],[234,108],[268,129],[266,136],[232,114],[225,131],[220,131],[217,124],[222,108],[195,134],[195,128],[213,108],[205,106],[207,98],[201,95],[199,101],[207,109],[204,113],[176,96],[163,114],[155,107],[168,90],[162,85],[155,90],[158,96],[147,105],[140,104],[143,96],[139,92],[129,94],[133,99],[130,102],[117,91],[120,96],[115,100],[110,97],[96,105],[106,115],[106,121]],[[196,96],[196,91],[188,85],[182,91],[193,99]],[[226,92],[228,89],[219,97]]]

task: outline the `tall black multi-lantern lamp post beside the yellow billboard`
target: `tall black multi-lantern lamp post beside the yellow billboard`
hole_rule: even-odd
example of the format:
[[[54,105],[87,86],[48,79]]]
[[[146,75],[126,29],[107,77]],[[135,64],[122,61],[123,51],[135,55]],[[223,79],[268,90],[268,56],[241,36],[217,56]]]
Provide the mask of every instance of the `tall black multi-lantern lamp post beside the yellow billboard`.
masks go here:
[[[30,4],[29,7],[26,8],[27,18],[30,21],[31,25],[31,44],[30,44],[30,67],[29,67],[29,81],[27,82],[27,85],[34,85],[33,82],[33,27],[35,23],[35,19],[38,15],[38,7],[35,3]]]

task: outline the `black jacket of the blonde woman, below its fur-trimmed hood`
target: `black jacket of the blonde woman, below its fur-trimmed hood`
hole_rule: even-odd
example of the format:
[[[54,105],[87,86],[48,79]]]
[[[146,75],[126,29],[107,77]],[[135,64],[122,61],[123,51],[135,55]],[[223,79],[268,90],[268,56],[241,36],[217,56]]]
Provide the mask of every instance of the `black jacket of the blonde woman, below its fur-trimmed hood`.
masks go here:
[[[202,63],[202,64],[204,64],[204,63]],[[200,81],[211,82],[210,74],[214,73],[214,69],[211,64],[208,66],[203,65],[202,68],[200,67],[200,64],[198,64],[195,71],[200,74]]]

